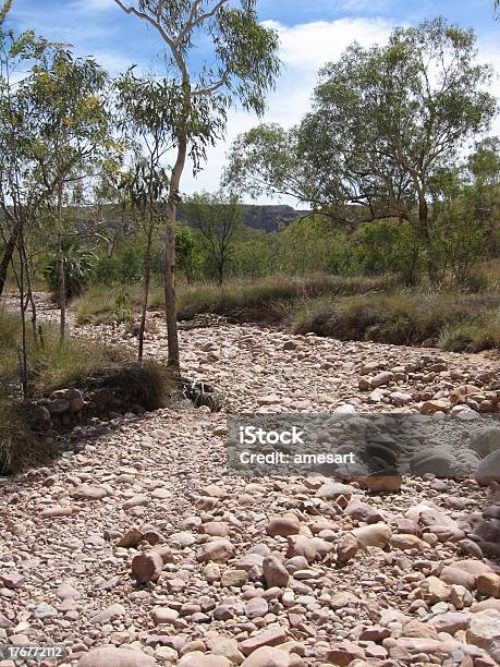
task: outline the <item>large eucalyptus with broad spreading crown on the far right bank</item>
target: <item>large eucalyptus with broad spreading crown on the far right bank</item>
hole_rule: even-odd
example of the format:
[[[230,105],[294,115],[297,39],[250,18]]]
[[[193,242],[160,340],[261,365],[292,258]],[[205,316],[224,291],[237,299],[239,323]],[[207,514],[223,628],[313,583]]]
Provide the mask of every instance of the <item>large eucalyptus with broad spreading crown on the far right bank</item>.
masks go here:
[[[228,179],[251,192],[267,181],[343,221],[407,220],[432,274],[429,179],[488,128],[490,78],[474,33],[443,19],[395,28],[383,46],[353,44],[320,71],[298,128],[260,128],[236,142]]]

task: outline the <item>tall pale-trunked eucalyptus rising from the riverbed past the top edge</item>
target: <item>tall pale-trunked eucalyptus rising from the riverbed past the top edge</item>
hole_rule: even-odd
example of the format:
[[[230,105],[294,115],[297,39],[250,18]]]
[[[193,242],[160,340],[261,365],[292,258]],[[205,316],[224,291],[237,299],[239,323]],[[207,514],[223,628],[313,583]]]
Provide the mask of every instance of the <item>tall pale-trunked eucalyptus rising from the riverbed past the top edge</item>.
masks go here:
[[[179,367],[174,226],[182,174],[188,157],[194,171],[200,169],[207,147],[223,133],[233,102],[264,112],[266,94],[280,69],[278,37],[259,24],[256,0],[114,2],[157,32],[164,45],[168,81],[178,98],[172,126],[175,159],[167,205],[164,300],[169,365]]]

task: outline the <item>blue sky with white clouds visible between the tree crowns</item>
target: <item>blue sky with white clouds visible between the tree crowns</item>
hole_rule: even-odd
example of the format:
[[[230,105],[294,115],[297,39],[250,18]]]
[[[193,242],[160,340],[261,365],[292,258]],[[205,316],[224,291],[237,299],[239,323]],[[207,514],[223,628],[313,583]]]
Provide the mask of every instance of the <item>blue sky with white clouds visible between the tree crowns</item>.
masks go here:
[[[479,60],[493,64],[499,74],[490,92],[500,99],[500,21],[493,21],[490,0],[257,0],[257,10],[259,20],[279,33],[283,62],[264,122],[297,123],[309,108],[318,70],[352,41],[383,44],[394,26],[437,15],[475,29]],[[113,0],[14,0],[10,23],[71,44],[78,56],[94,56],[111,74],[131,64],[161,71],[162,43],[156,32]],[[183,191],[217,190],[231,142],[258,122],[241,109],[232,110],[225,138],[209,150],[202,173],[194,178],[187,170]],[[492,133],[500,135],[500,119]]]

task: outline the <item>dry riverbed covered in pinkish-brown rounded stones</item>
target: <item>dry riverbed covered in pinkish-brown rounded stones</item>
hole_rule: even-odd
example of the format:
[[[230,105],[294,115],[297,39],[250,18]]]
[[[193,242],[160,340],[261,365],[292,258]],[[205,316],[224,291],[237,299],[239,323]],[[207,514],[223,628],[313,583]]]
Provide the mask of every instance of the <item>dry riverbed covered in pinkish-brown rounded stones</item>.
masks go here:
[[[151,319],[146,352],[162,359]],[[81,667],[499,664],[498,486],[427,475],[371,495],[224,474],[227,412],[453,411],[480,429],[498,360],[253,326],[181,344],[221,413],[125,415],[76,432],[51,469],[0,480],[0,645],[63,644],[59,664]],[[0,659],[17,664],[32,662]]]

